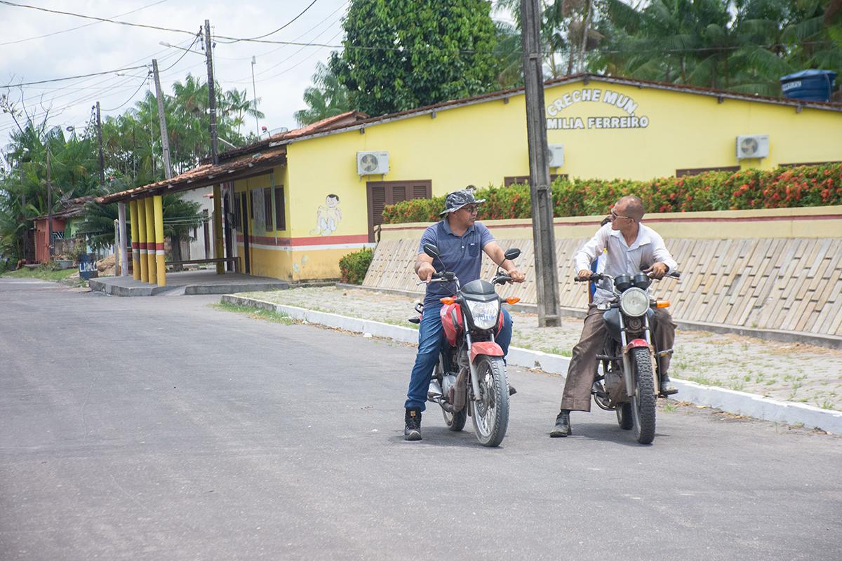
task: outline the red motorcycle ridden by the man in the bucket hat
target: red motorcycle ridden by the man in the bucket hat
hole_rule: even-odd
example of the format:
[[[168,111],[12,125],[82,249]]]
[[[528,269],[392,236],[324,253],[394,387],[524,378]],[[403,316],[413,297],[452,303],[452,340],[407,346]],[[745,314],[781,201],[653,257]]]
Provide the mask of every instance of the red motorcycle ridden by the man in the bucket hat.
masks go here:
[[[439,257],[439,248],[424,244],[424,253]],[[506,259],[520,256],[519,249],[510,249]],[[445,424],[451,431],[465,428],[471,415],[477,440],[488,447],[499,446],[509,427],[509,378],[503,360],[503,349],[494,337],[503,328],[500,303],[515,304],[520,298],[501,299],[494,289],[512,278],[499,268],[491,282],[477,279],[461,286],[456,274],[434,273],[430,283],[453,283],[453,296],[442,298],[441,323],[447,342],[442,345],[430,381],[427,400],[440,405]],[[419,316],[424,304],[416,304]],[[421,319],[410,318],[413,323]]]

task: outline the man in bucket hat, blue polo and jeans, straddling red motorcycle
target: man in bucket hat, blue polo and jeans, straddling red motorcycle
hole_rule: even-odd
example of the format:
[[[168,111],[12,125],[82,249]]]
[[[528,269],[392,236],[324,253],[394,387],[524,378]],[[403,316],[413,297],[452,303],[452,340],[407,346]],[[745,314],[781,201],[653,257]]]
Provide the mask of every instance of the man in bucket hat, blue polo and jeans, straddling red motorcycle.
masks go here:
[[[477,222],[477,207],[484,199],[474,198],[472,187],[449,193],[445,198],[445,209],[440,212],[444,220],[424,230],[418,244],[418,257],[415,260],[415,273],[427,283],[424,297],[424,315],[418,326],[418,355],[415,357],[412,375],[409,378],[407,401],[404,404],[406,426],[403,437],[406,440],[421,440],[421,412],[427,402],[427,389],[435,363],[439,360],[444,327],[441,325],[439,311],[440,299],[452,294],[450,283],[430,283],[436,271],[456,273],[461,284],[470,283],[479,278],[482,265],[482,251],[491,260],[503,267],[514,283],[525,280],[514,263],[505,258],[503,248],[494,241],[491,232]],[[440,257],[435,261],[424,253],[424,244],[433,244],[439,248]],[[504,354],[509,352],[512,339],[512,319],[509,312],[503,310],[504,325],[496,337]]]

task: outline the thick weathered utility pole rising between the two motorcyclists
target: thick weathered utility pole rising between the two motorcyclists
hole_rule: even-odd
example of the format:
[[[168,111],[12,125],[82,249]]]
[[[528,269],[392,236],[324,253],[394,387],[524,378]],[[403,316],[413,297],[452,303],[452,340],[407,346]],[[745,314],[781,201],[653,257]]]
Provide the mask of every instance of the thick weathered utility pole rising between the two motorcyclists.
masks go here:
[[[538,0],[520,0],[520,40],[524,56],[526,136],[529,140],[529,184],[532,237],[538,296],[538,326],[561,325],[558,313],[556,236],[552,226],[549,147],[544,117],[544,72],[541,56],[541,7]]]

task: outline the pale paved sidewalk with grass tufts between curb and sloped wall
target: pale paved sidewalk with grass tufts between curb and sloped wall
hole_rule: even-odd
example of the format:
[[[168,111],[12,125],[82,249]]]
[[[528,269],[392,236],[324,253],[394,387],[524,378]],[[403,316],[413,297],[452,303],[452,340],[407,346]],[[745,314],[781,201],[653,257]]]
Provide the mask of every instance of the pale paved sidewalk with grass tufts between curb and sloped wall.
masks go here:
[[[414,299],[354,288],[292,288],[241,296],[412,326]],[[561,327],[537,326],[534,314],[513,313],[512,345],[570,356],[582,320],[563,318]],[[776,400],[842,410],[842,351],[804,343],[679,330],[670,372],[675,378],[737,389]]]

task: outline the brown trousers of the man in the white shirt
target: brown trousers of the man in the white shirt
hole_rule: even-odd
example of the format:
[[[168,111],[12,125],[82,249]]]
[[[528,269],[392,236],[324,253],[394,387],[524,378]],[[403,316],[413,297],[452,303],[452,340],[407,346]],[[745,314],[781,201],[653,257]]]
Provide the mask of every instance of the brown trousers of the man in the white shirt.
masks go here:
[[[584,319],[582,336],[576,347],[573,347],[573,357],[568,367],[568,378],[564,383],[562,394],[562,409],[574,411],[590,410],[590,389],[594,385],[596,375],[596,355],[602,352],[605,336],[608,330],[602,315],[605,312],[596,309],[595,304],[588,307],[588,316]],[[675,341],[675,322],[664,308],[655,309],[655,319],[652,325],[652,342],[656,351],[673,348]],[[663,373],[669,370],[669,356],[660,360]]]

